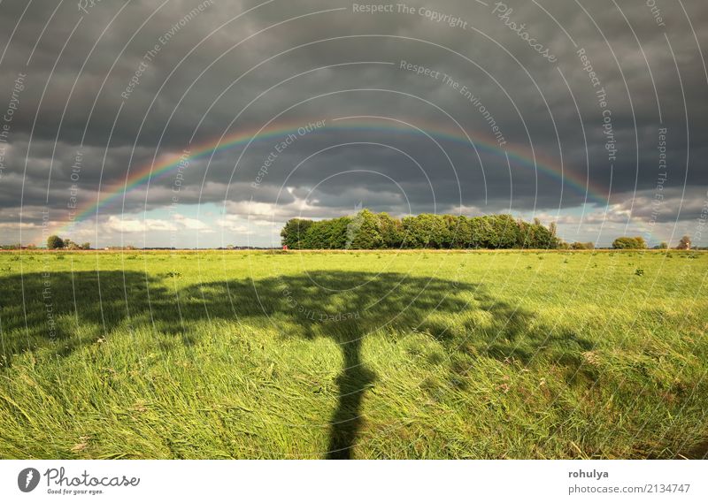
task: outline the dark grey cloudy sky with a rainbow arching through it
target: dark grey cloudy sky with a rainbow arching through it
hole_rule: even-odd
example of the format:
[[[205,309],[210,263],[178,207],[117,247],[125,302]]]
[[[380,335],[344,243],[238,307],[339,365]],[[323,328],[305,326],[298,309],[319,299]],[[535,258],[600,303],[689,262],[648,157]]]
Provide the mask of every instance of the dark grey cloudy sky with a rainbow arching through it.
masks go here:
[[[511,213],[708,246],[704,0],[0,0],[0,243]]]

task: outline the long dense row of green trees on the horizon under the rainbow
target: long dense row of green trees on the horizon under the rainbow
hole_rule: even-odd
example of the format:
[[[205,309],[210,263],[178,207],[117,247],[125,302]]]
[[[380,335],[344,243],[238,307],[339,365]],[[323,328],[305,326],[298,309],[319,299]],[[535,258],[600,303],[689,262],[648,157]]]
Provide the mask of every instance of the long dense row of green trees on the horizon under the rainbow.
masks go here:
[[[511,215],[466,217],[424,213],[401,219],[361,210],[352,217],[289,220],[281,231],[290,249],[558,248],[556,226]]]

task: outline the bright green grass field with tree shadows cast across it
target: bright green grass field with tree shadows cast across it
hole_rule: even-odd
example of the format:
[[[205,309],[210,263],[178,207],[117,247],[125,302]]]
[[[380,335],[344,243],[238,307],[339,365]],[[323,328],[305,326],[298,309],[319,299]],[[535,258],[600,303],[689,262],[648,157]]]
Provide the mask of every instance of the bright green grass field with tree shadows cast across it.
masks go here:
[[[2,458],[703,458],[699,252],[0,254]]]

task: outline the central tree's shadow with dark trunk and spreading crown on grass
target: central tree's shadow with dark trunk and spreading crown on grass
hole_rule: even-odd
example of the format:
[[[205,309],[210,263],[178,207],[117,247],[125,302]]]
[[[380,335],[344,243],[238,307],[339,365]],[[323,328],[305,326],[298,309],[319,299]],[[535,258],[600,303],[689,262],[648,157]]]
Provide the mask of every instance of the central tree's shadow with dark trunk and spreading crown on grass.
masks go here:
[[[362,401],[376,381],[362,359],[362,342],[367,334],[386,330],[395,337],[396,333],[418,332],[439,342],[449,356],[473,346],[475,356],[504,361],[514,356],[512,345],[530,346],[522,340],[534,319],[531,312],[492,298],[481,285],[396,273],[309,271],[254,282],[193,286],[184,294],[198,301],[189,308],[182,302],[183,312],[196,312],[201,303],[202,309],[207,308],[218,317],[242,318],[259,312],[276,327],[283,319],[288,322],[283,326],[296,327],[288,332],[281,330],[284,337],[335,341],[343,364],[336,377],[338,404],[329,423],[328,459],[353,457],[353,447],[365,421]],[[232,309],[228,309],[229,304]],[[482,339],[475,339],[480,334],[467,331],[469,326],[450,326],[456,316],[475,310],[487,315]],[[507,346],[497,339],[506,341]],[[542,338],[540,334],[532,342],[538,340],[547,345],[560,342],[559,337]],[[525,354],[523,358],[531,362],[532,355]],[[465,373],[468,369],[459,370]]]

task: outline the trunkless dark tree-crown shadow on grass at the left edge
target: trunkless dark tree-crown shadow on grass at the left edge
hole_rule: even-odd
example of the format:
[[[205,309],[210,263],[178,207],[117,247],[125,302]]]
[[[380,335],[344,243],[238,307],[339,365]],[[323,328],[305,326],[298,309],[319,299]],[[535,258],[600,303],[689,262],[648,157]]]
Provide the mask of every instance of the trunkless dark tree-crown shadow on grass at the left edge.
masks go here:
[[[0,283],[5,368],[26,352],[68,356],[144,313],[150,295],[167,292],[156,278],[137,271],[32,272],[2,277]]]

